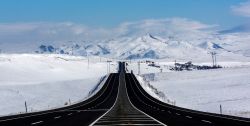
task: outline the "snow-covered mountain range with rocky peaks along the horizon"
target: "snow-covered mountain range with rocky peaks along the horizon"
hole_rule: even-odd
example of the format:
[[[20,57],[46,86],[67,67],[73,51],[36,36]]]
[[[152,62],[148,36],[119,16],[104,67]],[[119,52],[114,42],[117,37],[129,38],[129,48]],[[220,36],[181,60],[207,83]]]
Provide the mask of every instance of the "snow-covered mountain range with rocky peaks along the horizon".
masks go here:
[[[243,37],[244,36],[244,37]],[[246,38],[248,36],[248,38]],[[104,41],[81,41],[62,45],[38,45],[36,53],[69,55],[97,55],[118,59],[210,59],[210,52],[222,57],[245,58],[250,56],[247,40],[250,35],[223,34],[193,41],[178,40],[145,34],[134,37],[120,37]],[[242,37],[242,38],[241,38]]]

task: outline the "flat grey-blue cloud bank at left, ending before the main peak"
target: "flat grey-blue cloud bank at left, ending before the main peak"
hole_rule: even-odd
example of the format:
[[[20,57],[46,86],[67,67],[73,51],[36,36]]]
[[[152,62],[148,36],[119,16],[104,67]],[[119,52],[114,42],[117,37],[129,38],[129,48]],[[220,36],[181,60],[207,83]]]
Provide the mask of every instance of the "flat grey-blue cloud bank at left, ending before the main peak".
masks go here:
[[[0,24],[1,43],[41,41],[80,41],[103,37],[101,28],[90,28],[71,22],[4,23]]]

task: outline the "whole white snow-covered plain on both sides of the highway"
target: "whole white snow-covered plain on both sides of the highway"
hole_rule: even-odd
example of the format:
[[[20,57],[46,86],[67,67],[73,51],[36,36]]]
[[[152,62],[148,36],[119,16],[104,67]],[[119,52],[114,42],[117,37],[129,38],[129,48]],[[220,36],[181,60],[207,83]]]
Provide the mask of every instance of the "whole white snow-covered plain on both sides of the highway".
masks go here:
[[[49,55],[0,55],[0,116],[64,106],[88,97],[107,72],[107,59]],[[158,60],[160,68],[140,63],[140,74],[157,90],[144,88],[154,97],[177,106],[250,117],[250,62],[219,62],[224,68],[202,71],[170,71],[174,62]],[[194,64],[211,65],[209,62]],[[161,70],[162,69],[162,70]],[[111,72],[117,70],[111,63]],[[128,70],[138,73],[138,63]],[[161,72],[162,71],[162,72]],[[142,78],[138,77],[140,82]],[[165,98],[152,92],[162,91]],[[168,100],[168,101],[167,101]]]

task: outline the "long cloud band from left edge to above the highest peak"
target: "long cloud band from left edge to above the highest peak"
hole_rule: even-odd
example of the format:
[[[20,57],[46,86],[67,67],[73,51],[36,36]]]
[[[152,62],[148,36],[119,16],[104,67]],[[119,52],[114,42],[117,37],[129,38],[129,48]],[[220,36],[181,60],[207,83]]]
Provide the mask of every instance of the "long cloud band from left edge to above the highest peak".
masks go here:
[[[114,28],[93,28],[72,22],[35,22],[0,24],[1,43],[22,42],[66,42],[81,40],[103,40],[121,36],[152,33],[179,37],[200,36],[209,33],[215,25],[207,25],[185,18],[148,19],[125,22]]]

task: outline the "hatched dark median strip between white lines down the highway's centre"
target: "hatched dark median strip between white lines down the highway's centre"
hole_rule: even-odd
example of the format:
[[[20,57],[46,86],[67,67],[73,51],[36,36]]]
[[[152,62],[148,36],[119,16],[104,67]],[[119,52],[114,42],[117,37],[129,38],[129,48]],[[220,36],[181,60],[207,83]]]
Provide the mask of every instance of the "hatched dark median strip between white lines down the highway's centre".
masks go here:
[[[124,64],[120,64],[119,92],[114,106],[94,125],[164,125],[138,110],[130,102],[126,90]]]

